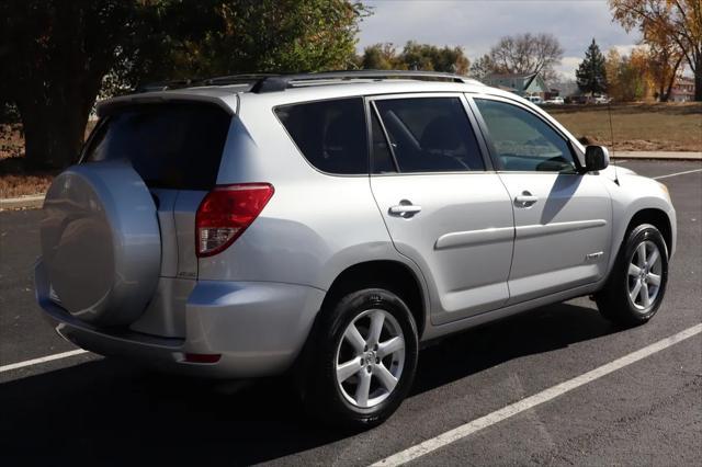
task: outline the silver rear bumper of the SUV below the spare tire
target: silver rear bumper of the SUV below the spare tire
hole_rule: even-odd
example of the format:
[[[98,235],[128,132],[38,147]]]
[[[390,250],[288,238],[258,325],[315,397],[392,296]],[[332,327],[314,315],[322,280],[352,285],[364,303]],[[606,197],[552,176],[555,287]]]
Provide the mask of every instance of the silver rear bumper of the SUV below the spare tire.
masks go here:
[[[301,352],[324,291],[264,282],[200,281],[185,305],[185,337],[160,338],[97,329],[49,298],[42,263],[36,298],[56,332],[102,354],[138,360],[162,371],[212,378],[249,378],[285,372]],[[218,354],[216,363],[191,363],[185,354]]]

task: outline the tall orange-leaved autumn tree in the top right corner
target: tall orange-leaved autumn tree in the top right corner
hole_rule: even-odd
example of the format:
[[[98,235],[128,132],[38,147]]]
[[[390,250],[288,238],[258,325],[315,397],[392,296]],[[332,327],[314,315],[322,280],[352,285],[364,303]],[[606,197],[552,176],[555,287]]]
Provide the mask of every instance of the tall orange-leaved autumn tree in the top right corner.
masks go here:
[[[702,2],[700,0],[610,0],[614,20],[644,41],[670,42],[694,75],[694,100],[702,101]]]

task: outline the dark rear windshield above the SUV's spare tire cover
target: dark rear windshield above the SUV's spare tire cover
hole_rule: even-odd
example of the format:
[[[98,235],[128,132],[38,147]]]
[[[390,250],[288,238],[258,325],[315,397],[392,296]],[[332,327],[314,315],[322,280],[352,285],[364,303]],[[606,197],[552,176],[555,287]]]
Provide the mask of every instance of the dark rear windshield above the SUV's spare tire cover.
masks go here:
[[[109,115],[83,161],[127,160],[150,187],[211,190],[231,115],[212,104],[145,104]]]

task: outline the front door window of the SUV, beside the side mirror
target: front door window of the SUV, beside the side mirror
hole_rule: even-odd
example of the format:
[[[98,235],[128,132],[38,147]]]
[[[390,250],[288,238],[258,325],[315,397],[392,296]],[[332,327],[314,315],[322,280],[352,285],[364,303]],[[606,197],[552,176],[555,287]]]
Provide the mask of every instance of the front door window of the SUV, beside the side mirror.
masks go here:
[[[501,170],[575,172],[570,146],[540,117],[505,102],[475,102]]]

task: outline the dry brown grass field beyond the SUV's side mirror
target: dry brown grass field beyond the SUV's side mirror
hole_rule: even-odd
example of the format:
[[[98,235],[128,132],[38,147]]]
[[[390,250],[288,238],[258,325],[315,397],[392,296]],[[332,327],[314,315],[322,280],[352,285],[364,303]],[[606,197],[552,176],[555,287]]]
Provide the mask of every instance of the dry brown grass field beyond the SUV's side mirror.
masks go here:
[[[607,105],[545,109],[578,138],[612,146]],[[614,150],[702,151],[702,103],[612,105]]]

